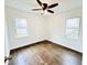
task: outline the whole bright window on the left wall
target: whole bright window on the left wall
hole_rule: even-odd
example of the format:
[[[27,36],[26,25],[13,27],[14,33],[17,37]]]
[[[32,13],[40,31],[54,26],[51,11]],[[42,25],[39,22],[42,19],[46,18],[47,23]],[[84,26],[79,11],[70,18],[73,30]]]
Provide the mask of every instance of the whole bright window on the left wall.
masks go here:
[[[15,18],[15,36],[17,37],[24,37],[28,36],[26,30],[26,20],[21,18]]]

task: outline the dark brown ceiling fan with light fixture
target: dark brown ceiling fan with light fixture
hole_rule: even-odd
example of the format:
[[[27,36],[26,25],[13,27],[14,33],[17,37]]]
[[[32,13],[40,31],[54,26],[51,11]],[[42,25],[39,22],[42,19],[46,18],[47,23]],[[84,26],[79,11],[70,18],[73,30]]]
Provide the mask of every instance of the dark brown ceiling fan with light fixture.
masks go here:
[[[50,13],[54,13],[54,11],[52,11],[50,9],[55,8],[56,6],[58,6],[58,3],[53,3],[53,4],[48,6],[47,3],[42,3],[40,0],[36,0],[36,2],[42,7],[42,9],[32,9],[32,10],[33,11],[42,10],[43,13],[44,13],[44,11],[47,11]]]

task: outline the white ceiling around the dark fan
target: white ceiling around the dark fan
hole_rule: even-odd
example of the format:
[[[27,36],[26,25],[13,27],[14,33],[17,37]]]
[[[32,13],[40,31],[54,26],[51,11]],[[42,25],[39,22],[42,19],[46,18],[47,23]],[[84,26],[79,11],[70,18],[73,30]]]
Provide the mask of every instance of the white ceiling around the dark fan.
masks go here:
[[[56,12],[64,12],[83,7],[83,0],[41,0],[42,2],[47,2],[48,4],[58,2],[58,7],[53,10]],[[11,8],[17,8],[26,12],[31,12],[33,8],[41,8],[36,0],[6,0],[6,6]]]

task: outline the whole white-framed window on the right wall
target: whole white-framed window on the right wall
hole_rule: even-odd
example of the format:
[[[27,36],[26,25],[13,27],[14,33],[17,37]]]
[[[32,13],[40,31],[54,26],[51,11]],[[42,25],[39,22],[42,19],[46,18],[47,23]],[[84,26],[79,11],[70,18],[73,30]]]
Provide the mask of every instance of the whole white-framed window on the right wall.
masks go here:
[[[80,28],[80,18],[73,18],[66,20],[66,37],[78,39]]]

